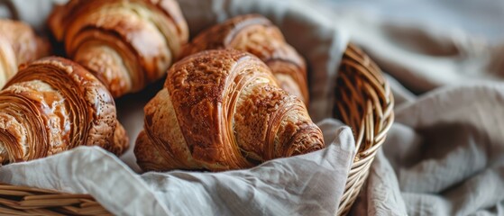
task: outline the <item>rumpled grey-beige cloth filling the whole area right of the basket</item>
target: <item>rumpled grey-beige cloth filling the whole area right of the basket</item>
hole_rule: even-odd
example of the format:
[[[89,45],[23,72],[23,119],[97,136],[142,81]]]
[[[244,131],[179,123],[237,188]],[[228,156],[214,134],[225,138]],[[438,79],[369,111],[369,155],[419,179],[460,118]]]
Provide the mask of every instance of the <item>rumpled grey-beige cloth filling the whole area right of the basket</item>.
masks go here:
[[[397,99],[351,214],[504,214],[504,32],[490,24],[501,2],[325,3]]]

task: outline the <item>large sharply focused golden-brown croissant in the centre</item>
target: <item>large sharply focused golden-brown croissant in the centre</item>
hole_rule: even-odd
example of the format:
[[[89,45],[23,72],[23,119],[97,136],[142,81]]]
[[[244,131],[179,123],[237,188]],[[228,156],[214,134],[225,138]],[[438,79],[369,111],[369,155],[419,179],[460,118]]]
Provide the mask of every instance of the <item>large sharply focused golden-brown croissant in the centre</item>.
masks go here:
[[[145,171],[244,168],[324,148],[305,104],[259,58],[234,49],[175,63],[144,112],[134,153]]]

